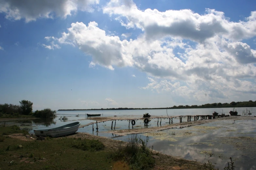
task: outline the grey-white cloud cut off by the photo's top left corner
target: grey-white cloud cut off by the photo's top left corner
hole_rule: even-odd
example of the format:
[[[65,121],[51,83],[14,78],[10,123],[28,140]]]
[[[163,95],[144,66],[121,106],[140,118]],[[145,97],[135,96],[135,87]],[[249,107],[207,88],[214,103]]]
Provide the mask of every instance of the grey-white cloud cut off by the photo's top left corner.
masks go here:
[[[10,20],[25,18],[26,22],[37,18],[66,18],[77,10],[92,12],[99,0],[0,0],[0,13]]]

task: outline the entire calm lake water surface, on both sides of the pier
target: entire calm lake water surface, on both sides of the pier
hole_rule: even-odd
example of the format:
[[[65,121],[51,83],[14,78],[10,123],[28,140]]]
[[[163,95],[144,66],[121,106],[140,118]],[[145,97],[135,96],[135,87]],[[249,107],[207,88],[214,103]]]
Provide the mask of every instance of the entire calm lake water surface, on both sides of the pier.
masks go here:
[[[225,113],[229,115],[229,111],[233,108],[199,108],[199,109],[168,109],[167,113],[169,116],[179,115],[211,115],[214,111],[219,114]],[[256,116],[256,107],[248,108],[252,113],[251,116]],[[235,108],[238,114],[242,115],[242,111],[246,111],[246,107]],[[8,124],[23,124],[21,127],[29,130],[33,133],[34,129],[45,129],[61,126],[67,123],[79,121],[81,125],[95,122],[94,120],[82,120],[86,119],[86,113],[88,114],[101,114],[103,117],[142,117],[143,114],[149,113],[151,116],[166,116],[166,109],[157,110],[97,110],[97,111],[57,111],[58,118],[51,118],[48,120],[35,119],[35,120],[19,120],[17,122],[6,122]],[[79,115],[78,117],[76,115]],[[60,116],[66,116],[68,121],[59,120]],[[101,116],[101,117],[102,117]],[[179,118],[173,119],[174,123],[179,123]],[[185,120],[186,121],[186,120]],[[116,121],[116,130],[128,129],[128,121]],[[161,126],[169,124],[169,120],[162,119]],[[223,168],[229,157],[235,159],[236,169],[256,169],[256,126],[255,120],[239,120],[235,123],[232,120],[221,120],[214,121],[208,124],[197,125],[198,126],[212,126],[218,127],[213,130],[196,129],[196,126],[186,127],[182,129],[168,129],[161,131],[165,136],[149,136],[148,147],[162,151],[165,154],[180,156],[185,159],[198,160],[202,163],[210,160],[218,168]],[[148,128],[157,126],[157,120],[151,120],[148,127],[144,126],[143,120],[137,120],[136,128]],[[159,124],[160,126],[160,124]],[[84,128],[79,128],[77,132],[87,132],[93,135],[106,136],[117,140],[127,140],[131,136],[118,136],[112,133],[103,133],[111,131],[111,121],[98,123],[99,132],[92,131],[93,126],[89,125]],[[131,128],[131,127],[130,127]],[[159,132],[157,132],[159,133]],[[172,135],[175,133],[176,135]],[[186,134],[186,135],[184,135]],[[193,134],[193,135],[187,135]],[[138,135],[142,139],[146,139],[147,134]],[[229,137],[247,136],[254,137],[251,140],[237,139],[235,144],[229,143]],[[226,138],[225,138],[226,137]],[[234,141],[234,139],[232,139]],[[252,143],[251,143],[252,142]],[[254,143],[253,143],[254,142]],[[236,146],[248,144],[253,148],[244,147],[237,149]]]

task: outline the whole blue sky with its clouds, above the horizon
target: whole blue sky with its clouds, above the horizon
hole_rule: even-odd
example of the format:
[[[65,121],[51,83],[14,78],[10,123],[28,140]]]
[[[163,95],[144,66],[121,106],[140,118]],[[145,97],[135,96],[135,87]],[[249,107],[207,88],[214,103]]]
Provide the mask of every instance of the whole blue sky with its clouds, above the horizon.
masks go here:
[[[255,1],[0,0],[0,103],[256,100]]]

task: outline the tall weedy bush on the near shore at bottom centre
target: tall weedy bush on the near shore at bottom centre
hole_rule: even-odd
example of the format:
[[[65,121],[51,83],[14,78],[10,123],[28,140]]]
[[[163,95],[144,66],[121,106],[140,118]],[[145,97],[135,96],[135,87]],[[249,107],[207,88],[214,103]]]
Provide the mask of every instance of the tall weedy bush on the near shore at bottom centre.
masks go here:
[[[146,141],[132,135],[124,145],[119,144],[112,152],[114,160],[126,161],[133,169],[150,169],[155,164],[152,152],[146,147]]]

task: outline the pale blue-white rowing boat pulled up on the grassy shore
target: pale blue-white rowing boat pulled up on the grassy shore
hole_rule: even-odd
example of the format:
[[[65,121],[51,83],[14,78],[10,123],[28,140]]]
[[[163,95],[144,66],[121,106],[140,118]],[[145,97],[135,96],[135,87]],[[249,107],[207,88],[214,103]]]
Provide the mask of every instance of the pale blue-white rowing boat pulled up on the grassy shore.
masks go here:
[[[79,125],[80,122],[77,121],[55,128],[34,130],[34,133],[36,136],[59,137],[76,133]]]

